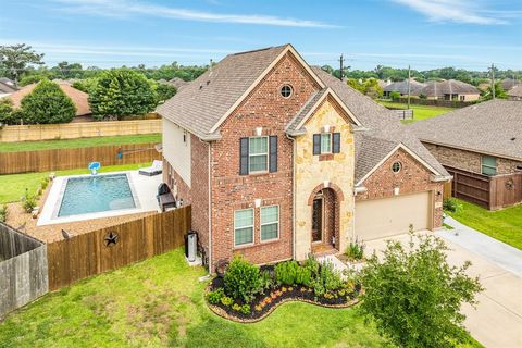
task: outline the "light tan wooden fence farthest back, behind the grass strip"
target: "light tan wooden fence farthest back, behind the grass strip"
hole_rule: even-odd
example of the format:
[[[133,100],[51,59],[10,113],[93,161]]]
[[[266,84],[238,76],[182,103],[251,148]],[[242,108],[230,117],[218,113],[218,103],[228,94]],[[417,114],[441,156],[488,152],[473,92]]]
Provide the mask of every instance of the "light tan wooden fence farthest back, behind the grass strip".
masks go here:
[[[77,122],[0,128],[0,142],[161,133],[161,120]]]

